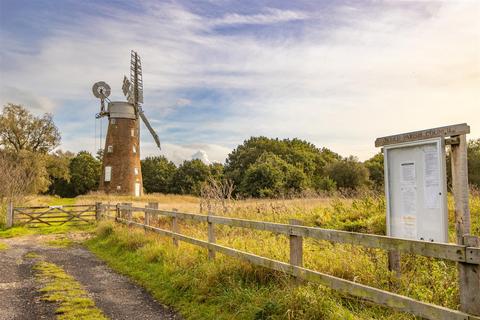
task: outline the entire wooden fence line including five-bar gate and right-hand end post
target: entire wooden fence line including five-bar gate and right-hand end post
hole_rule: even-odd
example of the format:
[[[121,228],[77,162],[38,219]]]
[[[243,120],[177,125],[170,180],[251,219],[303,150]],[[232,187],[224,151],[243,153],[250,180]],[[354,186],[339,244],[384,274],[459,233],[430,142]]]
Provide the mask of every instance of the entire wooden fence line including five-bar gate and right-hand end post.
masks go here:
[[[453,160],[456,161],[456,160]],[[143,213],[143,221],[134,216],[134,212]],[[113,214],[112,214],[113,213]],[[158,217],[170,217],[171,230],[152,226]],[[418,240],[393,238],[382,235],[356,233],[332,229],[302,226],[301,221],[290,220],[290,224],[253,221],[237,218],[179,212],[176,209],[159,210],[158,203],[149,203],[145,208],[134,207],[131,203],[117,205],[95,203],[92,205],[67,205],[50,207],[8,207],[8,226],[13,224],[38,227],[39,225],[62,225],[66,223],[94,223],[100,219],[113,219],[132,227],[171,237],[178,247],[179,241],[197,245],[208,250],[209,259],[222,253],[248,261],[252,264],[284,272],[299,280],[320,283],[334,290],[371,301],[393,309],[409,312],[416,316],[435,320],[480,320],[480,246],[477,236],[468,235],[462,243],[435,243]],[[191,220],[207,223],[208,240],[192,238],[180,233],[179,221]],[[463,221],[463,225],[465,221]],[[215,225],[247,228],[283,234],[289,238],[289,263],[269,259],[249,252],[236,250],[216,243]],[[462,225],[461,223],[457,223]],[[459,265],[460,311],[421,302],[406,296],[370,287],[353,281],[338,278],[303,266],[303,239],[313,238],[335,243],[352,244],[386,251],[416,254],[426,257],[457,262]]]

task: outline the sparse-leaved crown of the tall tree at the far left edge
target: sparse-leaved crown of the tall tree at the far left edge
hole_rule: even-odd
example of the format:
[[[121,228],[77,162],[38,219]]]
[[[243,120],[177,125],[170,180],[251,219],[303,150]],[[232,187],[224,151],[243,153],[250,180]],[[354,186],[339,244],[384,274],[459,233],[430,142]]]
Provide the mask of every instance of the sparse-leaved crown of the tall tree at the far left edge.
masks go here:
[[[5,150],[47,153],[60,144],[52,116],[35,117],[21,105],[7,104],[0,116],[0,145]]]

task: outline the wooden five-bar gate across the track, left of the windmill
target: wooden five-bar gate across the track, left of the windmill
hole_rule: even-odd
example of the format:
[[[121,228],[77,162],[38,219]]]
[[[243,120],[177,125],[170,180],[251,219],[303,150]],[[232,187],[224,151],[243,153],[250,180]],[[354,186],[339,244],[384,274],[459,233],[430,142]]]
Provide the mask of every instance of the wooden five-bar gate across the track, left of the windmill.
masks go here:
[[[8,208],[7,226],[28,227],[88,224],[97,218],[95,204]]]

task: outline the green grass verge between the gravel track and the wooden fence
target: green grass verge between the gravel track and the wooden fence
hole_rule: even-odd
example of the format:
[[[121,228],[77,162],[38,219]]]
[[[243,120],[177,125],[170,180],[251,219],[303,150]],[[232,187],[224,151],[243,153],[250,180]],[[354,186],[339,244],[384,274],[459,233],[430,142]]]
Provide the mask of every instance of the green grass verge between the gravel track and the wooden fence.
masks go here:
[[[186,319],[414,319],[138,229],[101,223],[86,245]]]

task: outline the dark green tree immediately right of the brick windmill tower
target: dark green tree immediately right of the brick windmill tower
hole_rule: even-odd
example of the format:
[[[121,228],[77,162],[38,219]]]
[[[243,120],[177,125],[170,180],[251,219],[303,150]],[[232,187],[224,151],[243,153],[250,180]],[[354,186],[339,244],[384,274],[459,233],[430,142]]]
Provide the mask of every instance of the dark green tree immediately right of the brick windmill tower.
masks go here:
[[[143,187],[147,193],[169,193],[177,167],[164,156],[147,157],[141,161]]]

